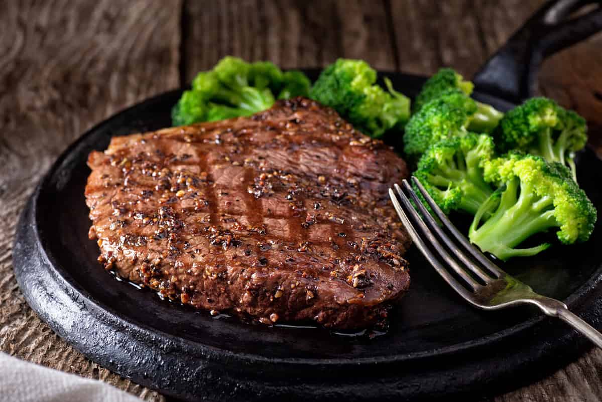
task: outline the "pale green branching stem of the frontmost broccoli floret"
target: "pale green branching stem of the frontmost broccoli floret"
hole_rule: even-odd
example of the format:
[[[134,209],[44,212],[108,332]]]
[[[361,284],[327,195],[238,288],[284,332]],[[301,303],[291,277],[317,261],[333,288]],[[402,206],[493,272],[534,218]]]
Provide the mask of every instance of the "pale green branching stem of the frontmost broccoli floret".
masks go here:
[[[520,187],[520,195],[517,195]],[[495,193],[494,193],[495,194]],[[492,195],[492,199],[498,194]],[[520,183],[517,178],[506,183],[501,193],[500,203],[495,212],[480,227],[483,214],[491,210],[491,202],[481,205],[474,216],[469,234],[471,243],[483,252],[490,252],[503,261],[511,257],[532,256],[547,249],[544,243],[529,249],[517,249],[535,233],[557,226],[554,217],[553,201],[550,197],[539,198],[532,186]]]

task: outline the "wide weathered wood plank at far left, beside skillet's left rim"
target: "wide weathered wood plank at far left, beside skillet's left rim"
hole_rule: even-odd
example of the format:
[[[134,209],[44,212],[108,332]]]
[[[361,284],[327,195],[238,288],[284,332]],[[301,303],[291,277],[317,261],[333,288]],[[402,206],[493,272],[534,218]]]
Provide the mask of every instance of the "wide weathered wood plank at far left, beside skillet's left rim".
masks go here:
[[[0,350],[100,379],[149,401],[157,392],[85,359],[29,309],[14,279],[17,217],[49,164],[94,123],[178,87],[179,3],[0,5]]]

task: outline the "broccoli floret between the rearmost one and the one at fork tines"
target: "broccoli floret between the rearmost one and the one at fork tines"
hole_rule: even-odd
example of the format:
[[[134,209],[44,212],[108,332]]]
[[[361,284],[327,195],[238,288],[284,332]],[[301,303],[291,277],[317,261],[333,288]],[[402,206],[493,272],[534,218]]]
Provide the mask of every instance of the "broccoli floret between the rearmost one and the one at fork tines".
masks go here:
[[[496,119],[487,119],[478,112],[476,102],[459,90],[450,90],[415,113],[403,135],[404,151],[416,159],[442,138],[458,137],[468,131],[483,132],[483,128],[497,125]]]

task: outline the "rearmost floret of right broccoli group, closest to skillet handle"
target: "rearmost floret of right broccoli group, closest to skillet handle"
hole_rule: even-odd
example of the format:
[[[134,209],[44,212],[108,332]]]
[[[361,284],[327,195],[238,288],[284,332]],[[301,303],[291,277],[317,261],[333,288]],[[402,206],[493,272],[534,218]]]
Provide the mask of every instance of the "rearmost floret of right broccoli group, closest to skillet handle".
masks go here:
[[[464,81],[464,78],[455,72],[455,70],[441,69],[424,83],[414,101],[414,113],[420,111],[431,100],[444,96],[451,91],[461,91],[470,96],[473,93],[473,86],[472,82]],[[476,100],[474,102],[477,110],[470,123],[470,128],[479,132],[491,132],[504,114],[491,105],[483,104]]]

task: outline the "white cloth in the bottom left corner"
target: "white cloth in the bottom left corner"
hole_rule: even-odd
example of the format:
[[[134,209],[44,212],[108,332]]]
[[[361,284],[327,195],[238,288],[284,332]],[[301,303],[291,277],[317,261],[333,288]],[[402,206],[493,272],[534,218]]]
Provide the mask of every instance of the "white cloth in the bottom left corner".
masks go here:
[[[0,402],[140,402],[96,380],[0,353]]]

